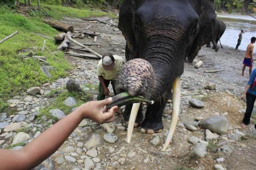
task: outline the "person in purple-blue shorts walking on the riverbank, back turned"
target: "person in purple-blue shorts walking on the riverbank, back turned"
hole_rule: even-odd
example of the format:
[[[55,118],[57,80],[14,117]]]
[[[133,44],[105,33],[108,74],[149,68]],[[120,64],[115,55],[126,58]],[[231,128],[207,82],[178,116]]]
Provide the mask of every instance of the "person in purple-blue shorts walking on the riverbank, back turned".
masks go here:
[[[252,68],[253,68],[253,50],[254,50],[253,44],[255,43],[255,41],[256,41],[256,38],[252,37],[251,43],[246,48],[246,53],[243,61],[242,76],[244,76],[244,70],[246,66],[249,67],[249,74],[251,75]]]

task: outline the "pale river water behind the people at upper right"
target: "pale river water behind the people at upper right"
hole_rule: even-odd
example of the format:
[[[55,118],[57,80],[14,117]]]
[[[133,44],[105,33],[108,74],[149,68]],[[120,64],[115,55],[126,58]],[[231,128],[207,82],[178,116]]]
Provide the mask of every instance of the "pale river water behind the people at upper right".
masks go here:
[[[227,26],[221,37],[222,45],[235,48],[241,29],[248,32],[243,34],[243,39],[238,49],[246,50],[247,45],[251,42],[251,37],[256,37],[256,19],[249,15],[218,14],[218,19],[222,20]],[[254,52],[256,52],[256,48]]]

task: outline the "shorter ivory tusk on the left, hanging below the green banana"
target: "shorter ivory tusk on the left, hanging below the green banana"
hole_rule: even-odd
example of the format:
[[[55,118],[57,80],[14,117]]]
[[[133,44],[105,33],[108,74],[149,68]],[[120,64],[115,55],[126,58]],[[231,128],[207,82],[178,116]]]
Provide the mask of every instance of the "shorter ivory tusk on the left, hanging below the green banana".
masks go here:
[[[131,108],[131,114],[129,118],[128,130],[127,130],[127,142],[130,143],[131,135],[134,127],[134,123],[140,108],[140,103],[133,103]]]

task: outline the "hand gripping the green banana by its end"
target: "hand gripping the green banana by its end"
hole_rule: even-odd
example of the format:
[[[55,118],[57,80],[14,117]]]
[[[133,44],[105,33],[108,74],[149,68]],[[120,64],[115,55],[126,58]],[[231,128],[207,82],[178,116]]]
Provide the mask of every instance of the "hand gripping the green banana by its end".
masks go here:
[[[80,109],[85,119],[90,119],[96,123],[109,123],[114,121],[114,113],[118,109],[118,106],[113,106],[110,109],[106,108],[113,99],[110,97],[100,101],[90,101],[81,105]]]

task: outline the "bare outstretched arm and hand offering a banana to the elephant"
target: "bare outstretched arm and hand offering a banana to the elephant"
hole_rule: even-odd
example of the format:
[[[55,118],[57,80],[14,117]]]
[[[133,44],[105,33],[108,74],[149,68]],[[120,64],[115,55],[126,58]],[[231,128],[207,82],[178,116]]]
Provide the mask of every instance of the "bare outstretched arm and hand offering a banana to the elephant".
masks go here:
[[[20,150],[0,149],[0,169],[32,169],[39,165],[65,142],[84,118],[97,123],[113,121],[118,107],[107,110],[105,106],[111,101],[112,98],[108,98],[81,105]]]

